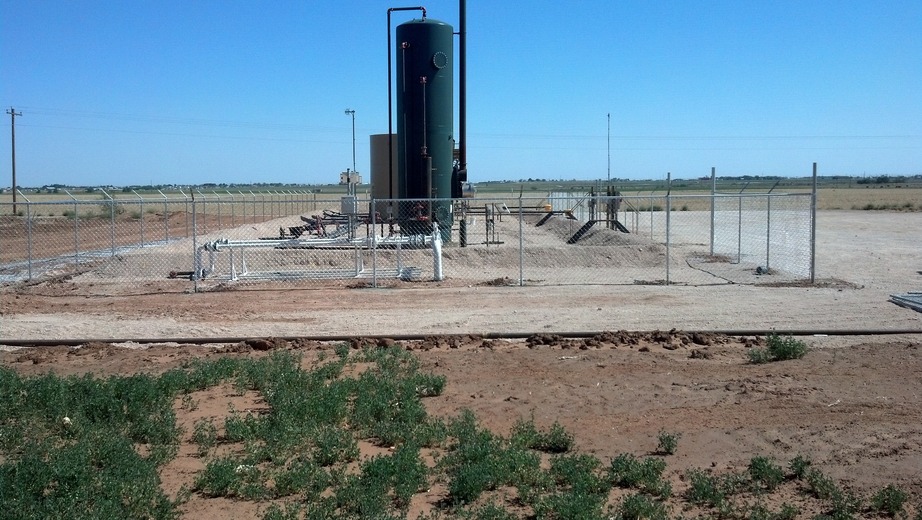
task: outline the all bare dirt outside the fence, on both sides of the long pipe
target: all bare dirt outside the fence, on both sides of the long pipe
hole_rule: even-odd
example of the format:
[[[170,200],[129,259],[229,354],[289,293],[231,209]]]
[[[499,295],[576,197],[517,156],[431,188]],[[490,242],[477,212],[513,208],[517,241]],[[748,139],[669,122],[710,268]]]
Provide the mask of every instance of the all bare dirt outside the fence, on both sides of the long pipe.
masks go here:
[[[189,294],[188,281],[100,290],[68,280],[0,288],[0,345],[72,338],[178,339],[92,348],[0,347],[23,373],[160,371],[193,356],[224,354],[182,338],[432,335],[407,343],[426,370],[443,374],[430,413],[461,408],[507,434],[515,421],[557,420],[579,449],[607,461],[646,455],[657,432],[681,433],[668,470],[680,491],[687,468],[744,468],[757,455],[809,456],[865,495],[885,484],[922,500],[922,313],[889,295],[922,291],[922,213],[825,211],[817,224],[819,283],[802,287],[457,287],[428,282],[381,289],[346,286]],[[740,337],[598,335],[601,331],[797,330],[801,360],[746,361]],[[833,334],[847,332],[847,335]],[[886,334],[879,334],[885,332]],[[528,340],[493,340],[521,333]],[[569,340],[585,333],[594,340]],[[437,338],[435,335],[450,336]],[[486,339],[485,339],[486,338]],[[683,341],[683,339],[685,341]],[[300,341],[306,362],[327,343]],[[230,392],[202,396],[197,414],[227,410]],[[240,403],[238,403],[240,404]],[[238,409],[245,408],[243,405]],[[180,415],[192,424],[199,416]],[[165,469],[175,493],[203,463],[194,446]],[[428,510],[439,490],[416,504]],[[193,497],[186,517],[254,518],[259,504]]]

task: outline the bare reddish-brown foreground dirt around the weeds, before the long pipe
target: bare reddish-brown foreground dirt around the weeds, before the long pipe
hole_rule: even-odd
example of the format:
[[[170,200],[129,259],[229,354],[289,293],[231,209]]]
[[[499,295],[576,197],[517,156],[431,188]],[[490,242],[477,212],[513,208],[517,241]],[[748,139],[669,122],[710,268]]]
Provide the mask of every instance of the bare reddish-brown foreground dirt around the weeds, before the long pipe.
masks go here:
[[[358,344],[359,341],[356,341]],[[740,471],[756,456],[786,465],[797,455],[839,485],[868,497],[892,484],[922,499],[922,342],[853,338],[845,346],[813,348],[800,360],[752,365],[746,349],[756,338],[716,334],[608,333],[565,339],[539,334],[526,340],[477,336],[431,337],[405,342],[427,372],[444,375],[442,395],[424,402],[430,414],[455,417],[472,410],[483,426],[508,435],[519,419],[533,418],[546,429],[559,421],[577,449],[607,464],[620,453],[652,455],[660,431],[681,435],[667,457],[666,478],[681,497],[688,469],[717,474]],[[251,342],[252,344],[252,342]],[[331,345],[315,341],[271,342],[292,349],[311,366]],[[126,348],[127,347],[127,348]],[[247,344],[48,347],[0,352],[0,363],[24,374],[97,375],[161,372],[194,357],[262,356]],[[196,421],[221,423],[230,406],[258,410],[258,395],[239,394],[232,385],[196,392],[198,405],[174,409],[183,428],[176,459],[163,467],[162,486],[175,497],[191,487],[205,466],[191,432]],[[360,444],[363,456],[384,449]],[[409,518],[432,511],[447,498],[433,486],[413,501]],[[674,510],[683,505],[673,499]],[[802,517],[823,512],[796,486],[768,499],[797,505]],[[192,494],[184,518],[259,518],[265,502],[205,498]],[[687,505],[686,505],[687,507]]]

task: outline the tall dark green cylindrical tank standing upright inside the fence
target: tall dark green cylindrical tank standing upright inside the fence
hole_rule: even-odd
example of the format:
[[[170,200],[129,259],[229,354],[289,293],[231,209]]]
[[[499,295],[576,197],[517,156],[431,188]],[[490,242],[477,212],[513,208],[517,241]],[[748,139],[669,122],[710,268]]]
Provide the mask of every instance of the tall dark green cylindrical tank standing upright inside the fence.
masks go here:
[[[397,26],[397,184],[402,199],[439,199],[403,204],[401,229],[431,232],[439,223],[451,240],[451,179],[454,153],[453,30],[431,18]]]

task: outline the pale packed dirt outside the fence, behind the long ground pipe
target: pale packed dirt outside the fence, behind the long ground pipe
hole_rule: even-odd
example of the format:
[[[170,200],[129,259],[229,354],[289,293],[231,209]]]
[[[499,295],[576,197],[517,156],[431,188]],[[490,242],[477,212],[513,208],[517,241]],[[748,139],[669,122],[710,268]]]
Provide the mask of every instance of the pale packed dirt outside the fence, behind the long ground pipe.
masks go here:
[[[922,212],[825,211],[817,220],[813,286],[471,287],[448,279],[377,289],[252,285],[193,294],[188,280],[113,285],[60,278],[0,286],[0,344],[672,328],[922,331],[922,313],[889,302],[892,294],[922,290]]]

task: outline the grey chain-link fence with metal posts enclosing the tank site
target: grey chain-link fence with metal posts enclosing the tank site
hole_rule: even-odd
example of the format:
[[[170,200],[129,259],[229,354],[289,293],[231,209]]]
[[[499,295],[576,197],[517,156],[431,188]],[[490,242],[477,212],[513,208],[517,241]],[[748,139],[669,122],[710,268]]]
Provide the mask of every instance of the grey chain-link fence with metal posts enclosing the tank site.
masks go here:
[[[460,200],[310,192],[0,204],[0,283],[74,276],[191,289],[793,283],[813,277],[812,194]]]

